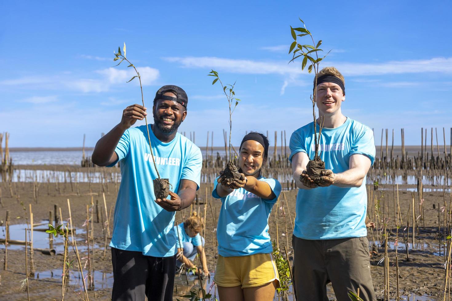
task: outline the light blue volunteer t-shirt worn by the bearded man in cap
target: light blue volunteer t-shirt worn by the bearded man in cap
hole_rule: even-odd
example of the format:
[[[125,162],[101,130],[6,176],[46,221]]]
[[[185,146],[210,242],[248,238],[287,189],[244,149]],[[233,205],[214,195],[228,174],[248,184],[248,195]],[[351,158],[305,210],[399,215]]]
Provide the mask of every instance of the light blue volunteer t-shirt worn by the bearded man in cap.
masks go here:
[[[151,125],[149,134],[160,177],[170,179],[170,190],[177,193],[183,179],[195,182],[199,189],[201,150],[179,133],[168,143],[155,137]],[[114,209],[110,246],[154,257],[173,256],[176,253],[174,212],[166,211],[154,201],[152,180],[157,178],[157,173],[149,149],[146,125],[126,130],[115,152],[121,162],[121,185]]]

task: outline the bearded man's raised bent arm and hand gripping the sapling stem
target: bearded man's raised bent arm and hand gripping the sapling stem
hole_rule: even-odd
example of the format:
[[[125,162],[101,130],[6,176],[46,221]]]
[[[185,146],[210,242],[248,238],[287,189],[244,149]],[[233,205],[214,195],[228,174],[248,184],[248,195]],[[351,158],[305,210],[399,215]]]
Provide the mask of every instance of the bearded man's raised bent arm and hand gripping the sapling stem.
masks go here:
[[[137,122],[143,120],[147,115],[146,108],[140,105],[131,105],[122,111],[121,122],[112,130],[104,135],[96,143],[91,160],[97,166],[108,166],[118,160],[118,155],[115,153],[115,148],[118,145],[122,134]]]

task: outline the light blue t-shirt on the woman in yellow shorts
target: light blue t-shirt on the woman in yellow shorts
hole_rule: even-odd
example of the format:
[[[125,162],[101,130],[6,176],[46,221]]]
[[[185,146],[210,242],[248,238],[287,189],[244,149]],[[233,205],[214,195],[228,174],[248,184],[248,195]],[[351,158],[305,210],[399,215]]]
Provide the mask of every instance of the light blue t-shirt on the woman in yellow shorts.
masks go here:
[[[212,196],[223,203],[217,225],[218,254],[231,257],[271,253],[268,216],[281,193],[281,184],[275,179],[258,179],[270,185],[274,199],[262,199],[244,188],[220,198],[217,179],[213,182]]]

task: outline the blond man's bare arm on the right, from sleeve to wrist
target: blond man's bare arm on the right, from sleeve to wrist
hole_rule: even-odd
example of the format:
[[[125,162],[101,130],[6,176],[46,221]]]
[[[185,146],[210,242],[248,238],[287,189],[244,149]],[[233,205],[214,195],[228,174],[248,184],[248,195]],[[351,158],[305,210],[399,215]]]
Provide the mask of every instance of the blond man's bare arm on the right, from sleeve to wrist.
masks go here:
[[[369,157],[362,154],[354,154],[350,156],[348,162],[349,169],[334,174],[334,182],[332,185],[338,187],[359,187],[363,184],[364,178],[371,167]]]

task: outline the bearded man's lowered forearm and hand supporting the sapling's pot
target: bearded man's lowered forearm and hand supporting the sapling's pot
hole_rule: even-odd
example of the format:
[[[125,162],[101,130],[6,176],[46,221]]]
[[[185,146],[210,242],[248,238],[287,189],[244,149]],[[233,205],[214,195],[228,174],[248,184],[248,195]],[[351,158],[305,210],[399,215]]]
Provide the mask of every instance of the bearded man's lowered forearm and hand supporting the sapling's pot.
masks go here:
[[[164,208],[166,211],[179,211],[187,208],[193,203],[196,196],[196,189],[198,185],[187,179],[180,180],[180,186],[178,193],[170,191],[171,199],[156,199],[160,207]]]

